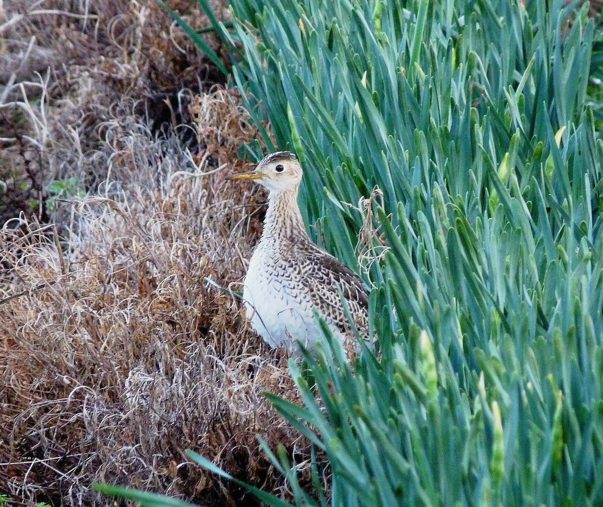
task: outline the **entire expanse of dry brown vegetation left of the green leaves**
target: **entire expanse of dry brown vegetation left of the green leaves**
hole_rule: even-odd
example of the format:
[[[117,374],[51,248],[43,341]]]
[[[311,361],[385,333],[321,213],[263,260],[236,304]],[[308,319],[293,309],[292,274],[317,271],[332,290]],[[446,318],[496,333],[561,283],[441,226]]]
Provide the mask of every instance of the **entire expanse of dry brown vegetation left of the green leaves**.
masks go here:
[[[191,464],[191,448],[286,496],[256,435],[309,457],[261,394],[295,389],[229,292],[265,196],[224,176],[257,132],[236,92],[209,90],[210,66],[154,2],[72,3],[0,6],[14,58],[0,76],[0,211],[21,212],[0,235],[0,494],[104,505],[90,490],[101,481],[251,502]],[[171,5],[203,24],[195,2]],[[77,193],[48,206],[49,183],[68,177]]]

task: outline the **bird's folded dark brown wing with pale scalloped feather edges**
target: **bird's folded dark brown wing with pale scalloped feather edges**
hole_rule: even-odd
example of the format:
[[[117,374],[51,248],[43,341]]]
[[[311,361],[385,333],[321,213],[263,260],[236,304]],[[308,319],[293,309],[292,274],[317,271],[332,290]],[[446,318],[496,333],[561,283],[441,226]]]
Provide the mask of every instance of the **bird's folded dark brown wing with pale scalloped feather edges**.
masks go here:
[[[354,324],[362,337],[368,336],[368,293],[362,279],[335,257],[314,244],[305,245],[296,261],[301,278],[308,282],[312,305],[341,333],[350,335],[349,320],[341,305],[338,287],[347,301]]]

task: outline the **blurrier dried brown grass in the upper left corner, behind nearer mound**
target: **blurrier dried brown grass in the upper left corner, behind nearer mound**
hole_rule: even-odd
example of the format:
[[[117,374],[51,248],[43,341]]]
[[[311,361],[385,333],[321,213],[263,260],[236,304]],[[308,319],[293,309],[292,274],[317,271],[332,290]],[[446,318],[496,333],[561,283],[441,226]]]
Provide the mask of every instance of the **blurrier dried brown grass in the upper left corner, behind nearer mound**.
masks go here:
[[[225,2],[214,3],[226,16]],[[168,4],[194,28],[207,26],[194,0]],[[215,35],[204,37],[223,52]],[[0,222],[25,211],[62,223],[47,214],[46,189],[75,177],[93,192],[106,179],[107,121],[137,104],[159,128],[171,121],[164,99],[177,109],[182,89],[223,80],[154,0],[0,2],[0,180],[8,187]]]

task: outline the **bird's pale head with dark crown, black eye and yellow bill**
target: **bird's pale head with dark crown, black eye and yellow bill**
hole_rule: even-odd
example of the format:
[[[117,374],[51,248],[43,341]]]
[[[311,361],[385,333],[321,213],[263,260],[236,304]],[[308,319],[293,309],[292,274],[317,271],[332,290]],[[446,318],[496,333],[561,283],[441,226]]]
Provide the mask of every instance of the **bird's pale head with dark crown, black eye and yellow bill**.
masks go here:
[[[250,179],[268,188],[271,193],[296,189],[301,182],[301,165],[289,151],[277,151],[266,156],[253,171],[233,174],[227,180]]]

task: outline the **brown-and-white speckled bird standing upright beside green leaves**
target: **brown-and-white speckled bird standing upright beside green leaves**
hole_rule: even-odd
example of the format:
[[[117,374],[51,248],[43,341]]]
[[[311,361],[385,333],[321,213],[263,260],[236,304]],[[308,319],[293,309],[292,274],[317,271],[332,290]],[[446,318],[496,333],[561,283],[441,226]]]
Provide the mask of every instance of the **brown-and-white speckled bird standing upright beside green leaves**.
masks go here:
[[[312,242],[297,204],[303,170],[289,151],[267,155],[247,173],[229,180],[253,180],[268,189],[264,229],[243,282],[251,327],[271,348],[301,357],[299,343],[314,351],[322,336],[314,308],[348,352],[358,351],[356,334],[341,301],[346,300],[359,336],[368,339],[368,292],[362,279]]]

